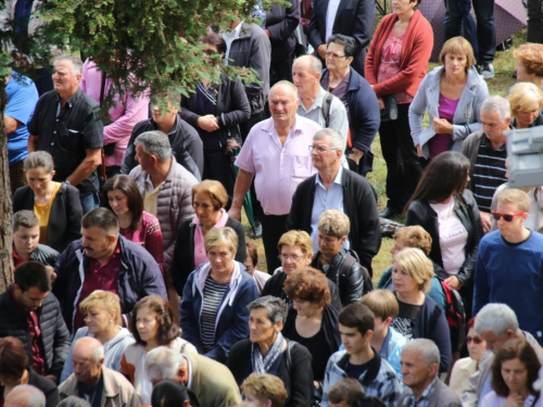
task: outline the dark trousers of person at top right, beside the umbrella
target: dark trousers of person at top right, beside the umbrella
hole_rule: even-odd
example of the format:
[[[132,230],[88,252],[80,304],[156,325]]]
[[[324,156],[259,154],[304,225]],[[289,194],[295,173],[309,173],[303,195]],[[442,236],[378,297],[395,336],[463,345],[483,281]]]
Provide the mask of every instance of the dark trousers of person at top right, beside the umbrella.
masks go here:
[[[464,13],[462,5],[469,0],[444,0],[445,1],[445,40],[459,36]],[[473,11],[477,17],[477,63],[479,65],[494,61],[496,52],[496,33],[494,27],[494,0],[475,0]],[[466,37],[472,44],[475,38]]]

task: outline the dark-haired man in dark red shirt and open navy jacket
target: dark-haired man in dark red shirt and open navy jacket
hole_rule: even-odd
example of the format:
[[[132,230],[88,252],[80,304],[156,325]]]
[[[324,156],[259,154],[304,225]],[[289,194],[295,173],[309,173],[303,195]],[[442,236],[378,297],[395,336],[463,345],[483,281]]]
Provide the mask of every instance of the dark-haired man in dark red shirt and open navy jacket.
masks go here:
[[[111,211],[99,207],[85,215],[81,234],[54,267],[53,292],[71,332],[85,326],[79,303],[94,290],[119,296],[125,326],[140,298],[152,294],[167,297],[159,265],[144,247],[119,234],[118,220]]]

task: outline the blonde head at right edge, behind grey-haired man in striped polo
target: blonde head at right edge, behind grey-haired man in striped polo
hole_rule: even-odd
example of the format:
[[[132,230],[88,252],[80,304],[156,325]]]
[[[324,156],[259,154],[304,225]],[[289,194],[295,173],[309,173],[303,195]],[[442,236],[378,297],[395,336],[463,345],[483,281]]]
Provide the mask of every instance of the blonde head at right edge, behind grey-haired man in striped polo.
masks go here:
[[[543,126],[543,91],[532,82],[515,85],[506,98],[510,103],[512,127],[515,129]]]

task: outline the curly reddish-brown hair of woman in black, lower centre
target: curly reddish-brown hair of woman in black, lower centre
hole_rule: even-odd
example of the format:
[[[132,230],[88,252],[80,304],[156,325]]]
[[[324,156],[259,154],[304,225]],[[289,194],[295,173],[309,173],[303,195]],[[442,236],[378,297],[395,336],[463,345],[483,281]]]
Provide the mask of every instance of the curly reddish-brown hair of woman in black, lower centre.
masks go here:
[[[305,267],[293,271],[285,280],[285,294],[290,300],[308,301],[325,308],[330,304],[330,290],[326,276],[314,269]]]

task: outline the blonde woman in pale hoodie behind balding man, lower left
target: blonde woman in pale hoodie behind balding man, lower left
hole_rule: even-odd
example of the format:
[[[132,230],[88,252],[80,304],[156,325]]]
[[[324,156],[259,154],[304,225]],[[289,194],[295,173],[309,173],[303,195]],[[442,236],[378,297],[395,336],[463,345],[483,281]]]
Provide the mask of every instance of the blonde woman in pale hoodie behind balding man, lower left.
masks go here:
[[[104,363],[106,368],[118,371],[121,358],[128,345],[134,343],[134,336],[123,328],[121,302],[118,295],[109,291],[96,290],[79,304],[79,310],[85,316],[87,327],[79,328],[72,341],[64,369],[62,369],[61,383],[74,372],[72,366],[72,349],[74,343],[83,336],[92,336],[100,341],[104,347]]]

